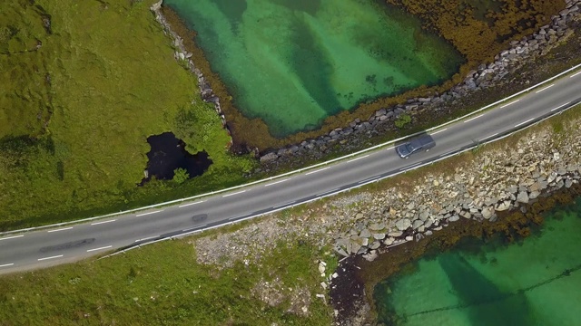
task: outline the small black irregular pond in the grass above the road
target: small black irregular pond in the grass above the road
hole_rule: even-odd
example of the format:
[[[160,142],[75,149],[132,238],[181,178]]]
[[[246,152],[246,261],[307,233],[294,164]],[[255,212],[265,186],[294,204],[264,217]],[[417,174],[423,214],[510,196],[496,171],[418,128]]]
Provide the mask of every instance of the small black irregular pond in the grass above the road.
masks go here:
[[[155,176],[159,180],[171,180],[176,168],[185,168],[190,178],[202,176],[212,164],[205,151],[191,154],[185,149],[182,139],[177,139],[172,132],[164,132],[161,135],[153,135],[147,138],[152,147],[147,153],[146,177],[143,182]]]

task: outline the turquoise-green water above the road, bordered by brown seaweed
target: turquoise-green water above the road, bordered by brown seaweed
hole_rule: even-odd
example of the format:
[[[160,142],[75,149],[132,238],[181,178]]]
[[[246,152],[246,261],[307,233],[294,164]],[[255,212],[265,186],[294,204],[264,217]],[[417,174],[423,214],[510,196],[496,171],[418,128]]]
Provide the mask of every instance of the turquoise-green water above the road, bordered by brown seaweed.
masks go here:
[[[369,101],[447,80],[463,62],[379,0],[165,0],[198,33],[234,104],[273,136],[316,129]]]

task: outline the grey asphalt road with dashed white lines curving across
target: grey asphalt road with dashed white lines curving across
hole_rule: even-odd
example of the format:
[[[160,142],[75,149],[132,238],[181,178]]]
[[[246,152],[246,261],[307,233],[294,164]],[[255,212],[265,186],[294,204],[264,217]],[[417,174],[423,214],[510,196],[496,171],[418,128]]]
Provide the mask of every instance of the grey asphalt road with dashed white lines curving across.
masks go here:
[[[581,72],[554,83],[549,82],[516,100],[498,105],[494,110],[483,111],[433,132],[436,147],[409,159],[399,158],[395,149],[389,147],[176,206],[54,229],[0,235],[0,273],[64,264],[297,205],[443,158],[476,143],[526,127],[579,101]]]

